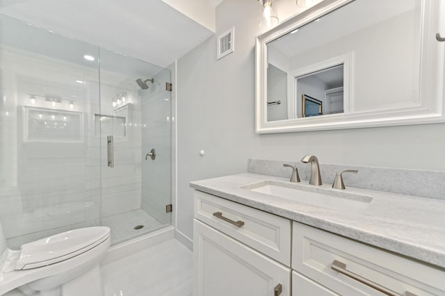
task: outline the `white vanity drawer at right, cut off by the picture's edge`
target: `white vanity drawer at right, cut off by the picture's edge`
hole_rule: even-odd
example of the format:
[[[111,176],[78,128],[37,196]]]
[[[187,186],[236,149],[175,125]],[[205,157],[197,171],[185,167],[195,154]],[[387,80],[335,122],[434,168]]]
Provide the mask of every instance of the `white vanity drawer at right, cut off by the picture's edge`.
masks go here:
[[[298,222],[293,222],[292,268],[340,295],[385,295],[373,283],[394,295],[445,295],[445,270]]]

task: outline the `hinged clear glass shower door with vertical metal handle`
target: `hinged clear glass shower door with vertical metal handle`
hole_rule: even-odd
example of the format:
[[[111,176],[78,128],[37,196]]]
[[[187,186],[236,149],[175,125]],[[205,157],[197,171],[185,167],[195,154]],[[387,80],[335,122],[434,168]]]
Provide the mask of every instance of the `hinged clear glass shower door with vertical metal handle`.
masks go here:
[[[100,49],[95,134],[102,146],[101,224],[111,228],[112,244],[170,224],[169,82],[167,69]]]

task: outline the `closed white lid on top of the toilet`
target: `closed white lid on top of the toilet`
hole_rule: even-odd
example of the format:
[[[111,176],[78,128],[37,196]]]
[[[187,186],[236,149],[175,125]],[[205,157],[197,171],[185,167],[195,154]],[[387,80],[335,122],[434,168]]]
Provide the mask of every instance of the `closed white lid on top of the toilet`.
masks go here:
[[[26,265],[40,267],[57,263],[58,258],[60,261],[66,260],[92,249],[109,236],[108,227],[86,227],[26,243],[20,247],[20,257],[15,263],[15,270],[28,269]]]

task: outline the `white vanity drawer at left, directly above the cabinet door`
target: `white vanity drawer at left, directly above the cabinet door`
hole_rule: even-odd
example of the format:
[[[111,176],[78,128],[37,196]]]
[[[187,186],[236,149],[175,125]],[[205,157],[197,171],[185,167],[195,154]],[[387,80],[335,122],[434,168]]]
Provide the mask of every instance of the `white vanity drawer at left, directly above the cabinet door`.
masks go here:
[[[288,219],[197,190],[195,218],[286,266],[291,265],[291,221]],[[237,226],[229,220],[241,221],[243,225]]]

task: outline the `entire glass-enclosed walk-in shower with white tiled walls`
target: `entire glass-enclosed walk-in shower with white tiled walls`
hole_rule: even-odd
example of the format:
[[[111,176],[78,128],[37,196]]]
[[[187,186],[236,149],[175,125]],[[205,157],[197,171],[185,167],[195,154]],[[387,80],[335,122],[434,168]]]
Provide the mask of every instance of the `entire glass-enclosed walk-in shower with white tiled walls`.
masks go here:
[[[116,244],[170,225],[165,83],[168,69],[0,15],[0,219],[10,248],[99,224]]]

